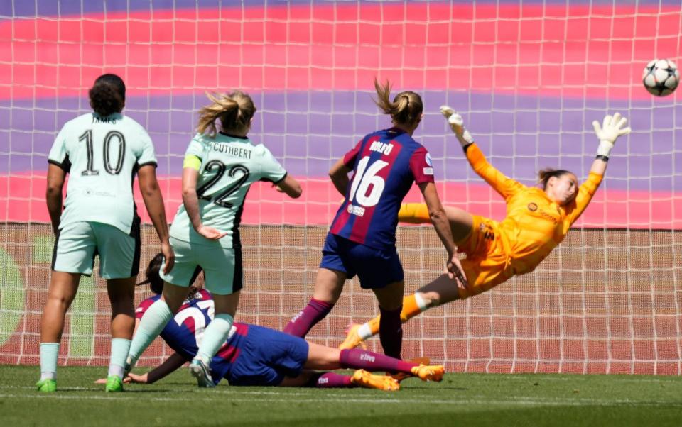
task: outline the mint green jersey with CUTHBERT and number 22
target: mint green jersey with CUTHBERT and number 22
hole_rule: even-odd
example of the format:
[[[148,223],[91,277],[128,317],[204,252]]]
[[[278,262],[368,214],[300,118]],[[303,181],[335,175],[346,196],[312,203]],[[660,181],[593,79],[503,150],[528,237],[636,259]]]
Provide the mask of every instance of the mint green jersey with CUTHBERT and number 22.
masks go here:
[[[239,246],[239,222],[249,187],[256,181],[280,182],[286,170],[265,145],[223,133],[215,138],[196,135],[185,152],[188,155],[201,159],[197,180],[201,222],[227,231],[220,239],[223,247]],[[175,214],[171,236],[189,243],[210,243],[195,231],[184,205]]]

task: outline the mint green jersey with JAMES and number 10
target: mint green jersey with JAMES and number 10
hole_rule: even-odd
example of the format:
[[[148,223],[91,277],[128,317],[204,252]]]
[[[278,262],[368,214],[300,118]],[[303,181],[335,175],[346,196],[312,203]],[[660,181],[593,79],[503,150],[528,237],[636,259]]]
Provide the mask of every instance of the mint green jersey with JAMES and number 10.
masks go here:
[[[156,167],[154,145],[139,123],[119,113],[74,118],[58,133],[48,162],[69,174],[60,228],[93,221],[130,233],[135,173]]]

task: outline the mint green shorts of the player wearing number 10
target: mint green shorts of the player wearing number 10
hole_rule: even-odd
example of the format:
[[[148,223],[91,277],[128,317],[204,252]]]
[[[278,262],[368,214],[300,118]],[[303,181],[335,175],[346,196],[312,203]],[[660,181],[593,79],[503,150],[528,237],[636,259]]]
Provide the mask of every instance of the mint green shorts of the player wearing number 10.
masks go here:
[[[131,233],[91,221],[65,225],[55,240],[52,270],[92,275],[94,256],[99,254],[99,275],[104,279],[127,279],[140,270],[140,223]]]

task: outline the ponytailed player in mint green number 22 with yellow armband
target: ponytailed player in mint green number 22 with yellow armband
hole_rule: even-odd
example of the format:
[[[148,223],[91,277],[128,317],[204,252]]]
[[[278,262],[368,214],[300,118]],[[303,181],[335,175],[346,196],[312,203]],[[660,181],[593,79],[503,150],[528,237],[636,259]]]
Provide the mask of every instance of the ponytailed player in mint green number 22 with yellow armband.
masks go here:
[[[197,135],[183,163],[183,204],[171,226],[175,252],[172,272],[161,267],[163,296],[141,318],[130,347],[128,369],[173,318],[203,270],[213,294],[215,318],[202,336],[190,372],[200,387],[213,387],[210,360],[227,339],[242,289],[242,244],[239,222],[244,198],[256,181],[273,182],[291,197],[301,195],[296,179],[264,145],[247,138],[256,112],[247,94],[208,95],[212,104],[199,111]],[[220,133],[215,122],[220,120]],[[166,264],[164,263],[164,266]]]

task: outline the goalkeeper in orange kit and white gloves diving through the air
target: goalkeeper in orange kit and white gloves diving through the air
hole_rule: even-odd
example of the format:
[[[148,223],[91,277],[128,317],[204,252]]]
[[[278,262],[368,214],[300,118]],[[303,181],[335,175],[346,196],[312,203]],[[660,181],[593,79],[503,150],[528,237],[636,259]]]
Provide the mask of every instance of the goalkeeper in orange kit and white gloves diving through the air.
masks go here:
[[[515,275],[531,272],[545,259],[570,230],[592,200],[606,172],[609,155],[617,138],[627,135],[627,119],[619,113],[605,116],[602,125],[592,122],[600,143],[590,176],[578,187],[575,174],[567,170],[541,170],[542,188],[526,187],[505,177],[492,167],[464,127],[462,116],[448,106],[440,107],[448,119],[474,171],[507,202],[507,216],[494,221],[462,209],[445,206],[453,238],[466,255],[462,267],[468,287],[455,287],[446,275],[419,289],[403,301],[403,322],[431,307],[485,292]],[[403,204],[399,220],[428,223],[423,204]],[[354,348],[379,332],[379,317],[352,325],[340,348]]]

